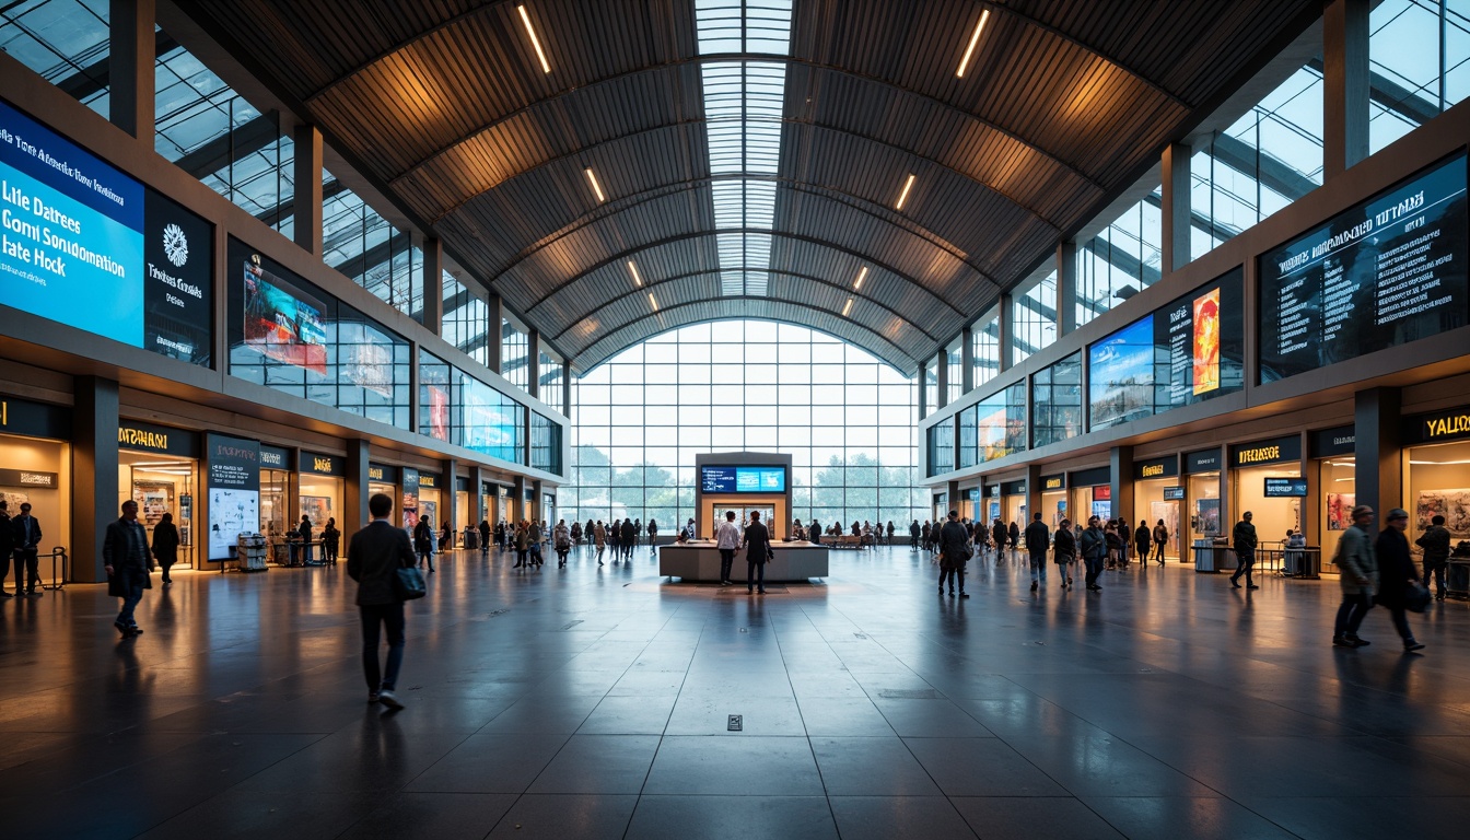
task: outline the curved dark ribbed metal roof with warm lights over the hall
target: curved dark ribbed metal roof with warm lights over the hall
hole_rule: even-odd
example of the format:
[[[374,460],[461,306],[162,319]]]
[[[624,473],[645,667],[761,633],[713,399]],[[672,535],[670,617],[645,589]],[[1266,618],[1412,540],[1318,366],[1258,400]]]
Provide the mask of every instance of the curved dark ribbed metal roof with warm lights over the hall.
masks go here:
[[[738,0],[523,3],[550,72],[516,3],[182,6],[575,369],[681,324],[751,316],[910,374],[1320,9],[747,0],[745,15],[791,7],[789,49],[723,53],[701,32]],[[707,112],[711,68],[748,96],[760,79],[742,66],[784,76],[763,135],[779,165],[748,147],[734,169],[711,159],[729,128]],[[734,125],[756,125],[751,107]],[[717,203],[741,188],[731,224]],[[756,193],[773,207],[751,222]],[[739,271],[763,282],[732,287]]]

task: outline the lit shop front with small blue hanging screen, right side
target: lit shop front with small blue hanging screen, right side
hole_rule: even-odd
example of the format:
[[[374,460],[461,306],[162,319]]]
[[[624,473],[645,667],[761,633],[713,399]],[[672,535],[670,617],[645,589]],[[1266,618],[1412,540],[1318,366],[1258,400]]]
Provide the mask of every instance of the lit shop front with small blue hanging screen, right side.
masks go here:
[[[1236,521],[1250,510],[1261,550],[1279,550],[1288,534],[1302,528],[1302,503],[1307,480],[1301,468],[1301,435],[1241,443],[1230,447],[1230,522],[1222,522],[1229,535]]]

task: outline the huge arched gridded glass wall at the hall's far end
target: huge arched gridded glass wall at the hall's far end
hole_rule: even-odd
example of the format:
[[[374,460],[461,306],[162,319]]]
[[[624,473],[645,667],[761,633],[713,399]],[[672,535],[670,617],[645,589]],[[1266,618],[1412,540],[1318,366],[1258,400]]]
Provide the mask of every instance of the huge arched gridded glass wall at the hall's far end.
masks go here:
[[[573,380],[567,521],[694,515],[694,456],[792,456],[803,522],[925,518],[914,380],[801,327],[725,321],[684,327]]]

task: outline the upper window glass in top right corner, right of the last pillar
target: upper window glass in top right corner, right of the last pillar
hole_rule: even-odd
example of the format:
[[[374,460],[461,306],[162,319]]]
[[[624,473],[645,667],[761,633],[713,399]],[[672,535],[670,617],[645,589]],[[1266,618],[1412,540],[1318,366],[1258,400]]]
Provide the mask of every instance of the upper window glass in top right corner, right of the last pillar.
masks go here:
[[[1470,93],[1470,1],[1382,0],[1369,18],[1373,153]]]

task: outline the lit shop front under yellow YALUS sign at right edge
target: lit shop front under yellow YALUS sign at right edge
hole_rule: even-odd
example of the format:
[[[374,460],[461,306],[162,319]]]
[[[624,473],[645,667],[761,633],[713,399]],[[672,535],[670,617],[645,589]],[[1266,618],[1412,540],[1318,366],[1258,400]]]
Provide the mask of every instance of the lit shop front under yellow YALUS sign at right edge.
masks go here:
[[[1435,516],[1445,518],[1451,546],[1470,540],[1470,406],[1407,418],[1402,438],[1410,546]],[[1461,569],[1451,568],[1449,588],[1458,593]]]

